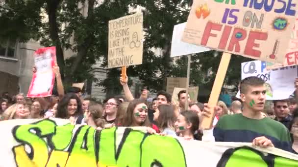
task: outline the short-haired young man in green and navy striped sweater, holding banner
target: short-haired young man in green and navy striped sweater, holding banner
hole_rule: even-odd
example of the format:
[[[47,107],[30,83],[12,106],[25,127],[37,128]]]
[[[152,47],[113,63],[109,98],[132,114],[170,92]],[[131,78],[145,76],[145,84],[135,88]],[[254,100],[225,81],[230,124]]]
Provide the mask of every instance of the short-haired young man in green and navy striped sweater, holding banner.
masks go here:
[[[243,101],[241,114],[223,116],[214,128],[218,142],[252,142],[253,146],[277,148],[293,151],[290,133],[281,123],[264,117],[266,87],[257,77],[248,77],[240,83],[240,97]],[[203,114],[212,116],[208,104],[204,104]],[[219,110],[219,107],[215,107]]]

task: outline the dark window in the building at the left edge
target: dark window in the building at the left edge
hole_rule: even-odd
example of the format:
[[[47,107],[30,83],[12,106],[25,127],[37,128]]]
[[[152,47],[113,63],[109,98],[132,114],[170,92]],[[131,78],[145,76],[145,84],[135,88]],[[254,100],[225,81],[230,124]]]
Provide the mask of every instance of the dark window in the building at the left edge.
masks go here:
[[[0,41],[0,56],[4,57],[15,57],[16,41],[5,40]]]

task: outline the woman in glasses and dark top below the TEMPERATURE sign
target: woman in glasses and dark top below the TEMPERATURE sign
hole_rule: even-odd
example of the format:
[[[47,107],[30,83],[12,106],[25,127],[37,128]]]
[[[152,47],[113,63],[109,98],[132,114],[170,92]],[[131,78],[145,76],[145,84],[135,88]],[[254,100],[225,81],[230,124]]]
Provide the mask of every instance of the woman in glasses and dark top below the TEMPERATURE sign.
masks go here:
[[[117,115],[117,109],[120,105],[120,101],[116,98],[110,98],[105,104],[105,115],[103,119],[107,124],[114,124]]]

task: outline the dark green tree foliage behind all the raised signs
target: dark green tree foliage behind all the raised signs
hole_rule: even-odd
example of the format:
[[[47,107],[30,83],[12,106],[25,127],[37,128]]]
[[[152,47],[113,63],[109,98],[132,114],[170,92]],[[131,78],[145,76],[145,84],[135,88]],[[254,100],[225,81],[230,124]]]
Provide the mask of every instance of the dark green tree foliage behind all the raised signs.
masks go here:
[[[84,11],[88,11],[88,17],[82,15],[82,9],[78,8],[80,3],[87,4]],[[34,39],[44,46],[55,45],[58,65],[67,84],[94,80],[90,71],[96,61],[103,57],[99,63],[102,67],[107,65],[108,21],[129,15],[129,6],[143,6],[146,32],[143,64],[130,66],[127,75],[138,77],[149,89],[164,90],[167,77],[186,77],[187,57],[173,63],[170,51],[174,25],[187,21],[191,4],[192,0],[103,0],[101,3],[95,0],[6,0],[5,5],[0,6],[0,39],[9,37],[21,42]],[[77,56],[64,61],[62,50],[67,49]],[[211,89],[221,52],[214,55],[215,51],[192,55],[191,85]],[[249,59],[233,55],[225,84],[238,84],[240,63],[244,61]],[[119,77],[119,68],[109,69],[107,79],[98,81],[98,85],[104,86],[108,95],[119,94],[122,90]]]

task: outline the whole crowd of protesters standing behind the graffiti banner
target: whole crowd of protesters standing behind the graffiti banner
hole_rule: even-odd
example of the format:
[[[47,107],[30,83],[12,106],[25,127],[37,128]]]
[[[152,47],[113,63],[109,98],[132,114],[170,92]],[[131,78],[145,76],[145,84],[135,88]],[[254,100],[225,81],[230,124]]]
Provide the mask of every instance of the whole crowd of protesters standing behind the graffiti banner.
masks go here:
[[[65,94],[53,92],[50,97],[25,98],[19,93],[10,97],[4,92],[0,98],[1,120],[11,119],[69,119],[73,125],[90,125],[98,130],[113,126],[143,126],[151,134],[182,137],[185,140],[202,140],[204,130],[199,127],[202,119],[215,117],[215,141],[251,142],[254,146],[274,146],[286,151],[298,151],[298,101],[294,97],[273,101],[265,109],[266,87],[263,80],[248,77],[241,81],[240,99],[226,105],[219,101],[214,107],[191,102],[186,91],[177,95],[157,92],[148,102],[148,90],[143,89],[134,98],[127,85],[127,77],[120,78],[124,97],[111,97],[103,104],[91,98],[82,99],[80,88],[71,87]],[[298,86],[298,81],[295,81]],[[296,91],[297,92],[297,91]],[[188,103],[186,103],[188,101]],[[185,107],[185,105],[188,105]]]

